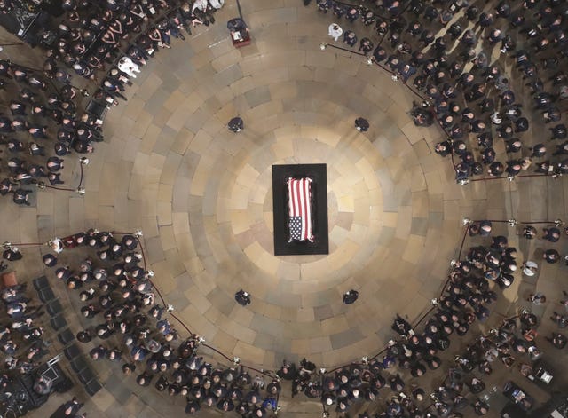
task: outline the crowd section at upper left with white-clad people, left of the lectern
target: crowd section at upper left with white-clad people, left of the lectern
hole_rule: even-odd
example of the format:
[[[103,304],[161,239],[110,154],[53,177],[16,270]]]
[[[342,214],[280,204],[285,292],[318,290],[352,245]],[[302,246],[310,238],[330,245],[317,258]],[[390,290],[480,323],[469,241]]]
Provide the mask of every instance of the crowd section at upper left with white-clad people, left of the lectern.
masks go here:
[[[93,81],[105,71],[93,96],[116,104],[116,98],[125,99],[128,77],[135,77],[154,52],[169,49],[172,37],[185,40],[184,33],[192,35],[198,24],[214,23],[215,11],[223,4],[224,0],[65,1],[65,18],[42,34],[44,71],[66,84],[71,70]]]

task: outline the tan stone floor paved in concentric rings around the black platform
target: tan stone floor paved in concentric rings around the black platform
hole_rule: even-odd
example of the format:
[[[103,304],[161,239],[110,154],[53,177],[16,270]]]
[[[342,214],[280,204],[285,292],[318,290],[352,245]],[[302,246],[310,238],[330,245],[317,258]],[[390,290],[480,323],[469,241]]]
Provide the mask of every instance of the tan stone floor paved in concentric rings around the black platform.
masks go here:
[[[441,131],[417,129],[407,115],[413,95],[360,56],[320,51],[331,17],[301,4],[243,2],[253,42],[242,49],[222,24],[237,14],[231,2],[219,24],[160,51],[107,115],[86,195],[41,192],[25,209],[3,201],[2,219],[16,221],[4,222],[2,241],[141,228],[177,315],[218,350],[272,370],[282,359],[334,367],[380,351],[396,312],[414,320],[430,308],[463,217],[566,217],[565,179],[456,185],[449,160],[432,151]],[[245,121],[239,134],[226,129],[235,115]],[[353,128],[358,116],[370,130]],[[271,166],[309,162],[327,163],[329,255],[273,256]],[[511,241],[525,259],[542,244]],[[565,276],[543,266],[538,282],[505,292],[499,318],[535,286],[553,296]],[[240,288],[252,294],[246,308],[233,300]],[[350,288],[360,297],[348,307]],[[105,388],[87,403],[90,416],[180,416],[184,399],[142,393],[116,367],[97,367]],[[288,395],[282,406],[282,416],[320,416],[318,403]]]

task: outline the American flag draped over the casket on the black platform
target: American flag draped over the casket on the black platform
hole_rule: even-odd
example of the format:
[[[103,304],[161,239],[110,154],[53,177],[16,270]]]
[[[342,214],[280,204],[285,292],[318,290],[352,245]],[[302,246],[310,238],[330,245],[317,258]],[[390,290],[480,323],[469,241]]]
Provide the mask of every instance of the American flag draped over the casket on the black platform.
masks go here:
[[[288,178],[288,227],[290,241],[311,241],[312,178]]]

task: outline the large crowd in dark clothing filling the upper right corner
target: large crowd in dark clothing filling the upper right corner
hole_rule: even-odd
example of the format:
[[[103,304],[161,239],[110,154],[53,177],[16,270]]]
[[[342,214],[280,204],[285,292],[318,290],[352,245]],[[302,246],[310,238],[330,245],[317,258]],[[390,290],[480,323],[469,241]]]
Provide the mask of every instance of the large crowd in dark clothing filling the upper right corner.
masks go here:
[[[360,6],[334,0],[317,4],[320,12],[334,16],[329,36],[337,42],[343,37],[349,48],[359,45],[359,52],[418,92],[423,100],[414,105],[411,117],[417,126],[437,122],[444,130],[447,139],[435,151],[455,156],[456,181],[484,174],[515,177],[532,165],[543,175],[568,172],[568,133],[561,122],[566,105],[560,103],[568,99],[565,2],[501,1],[486,10],[468,0],[389,0],[378,9],[370,1]],[[337,23],[341,20],[349,30]],[[375,43],[369,35],[359,40],[356,32],[368,33],[365,27],[375,28]],[[492,62],[494,49],[501,57]],[[509,61],[531,91],[531,107],[546,124],[548,140],[562,143],[524,134],[533,108],[524,108],[522,92],[515,92],[504,74]],[[474,154],[477,148],[480,152]]]

